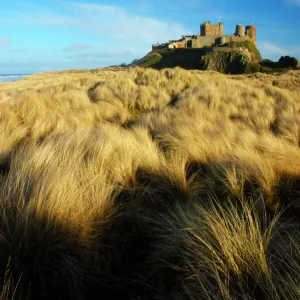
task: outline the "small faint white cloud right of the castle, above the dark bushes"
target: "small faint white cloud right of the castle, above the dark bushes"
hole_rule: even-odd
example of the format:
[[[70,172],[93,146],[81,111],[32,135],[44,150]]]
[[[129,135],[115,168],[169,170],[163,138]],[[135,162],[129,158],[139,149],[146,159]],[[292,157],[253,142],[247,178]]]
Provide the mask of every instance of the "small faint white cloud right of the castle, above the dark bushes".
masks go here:
[[[279,58],[280,56],[290,55],[300,58],[300,46],[281,47],[269,41],[259,43],[258,49],[264,58]]]

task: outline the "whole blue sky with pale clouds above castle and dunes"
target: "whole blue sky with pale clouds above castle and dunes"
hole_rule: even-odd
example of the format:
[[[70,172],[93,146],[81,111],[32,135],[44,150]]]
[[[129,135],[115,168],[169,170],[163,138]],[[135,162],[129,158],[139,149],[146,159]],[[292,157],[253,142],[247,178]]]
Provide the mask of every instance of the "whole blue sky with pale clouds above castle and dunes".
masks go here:
[[[204,21],[257,26],[264,58],[300,60],[300,0],[1,1],[0,74],[129,63]]]

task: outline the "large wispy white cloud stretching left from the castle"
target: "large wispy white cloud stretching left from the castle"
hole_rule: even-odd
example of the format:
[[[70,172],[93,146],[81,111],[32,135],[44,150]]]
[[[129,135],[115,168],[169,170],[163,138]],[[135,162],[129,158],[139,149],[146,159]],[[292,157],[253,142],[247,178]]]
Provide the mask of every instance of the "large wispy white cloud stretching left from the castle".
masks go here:
[[[85,34],[135,44],[164,42],[189,34],[179,22],[138,16],[118,6],[68,3],[68,16],[32,13],[23,21],[44,26],[71,27]]]

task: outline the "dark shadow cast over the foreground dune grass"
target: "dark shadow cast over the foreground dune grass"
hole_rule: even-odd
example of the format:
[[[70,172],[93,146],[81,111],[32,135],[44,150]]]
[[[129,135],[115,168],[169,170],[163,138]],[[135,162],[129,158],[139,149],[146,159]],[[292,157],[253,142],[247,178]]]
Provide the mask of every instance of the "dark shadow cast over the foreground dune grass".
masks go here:
[[[205,294],[199,294],[197,280],[191,280],[190,267],[195,276],[205,274],[210,270],[206,265],[210,253],[205,252],[205,244],[193,232],[206,232],[207,242],[214,247],[219,247],[219,241],[214,241],[205,215],[196,207],[220,209],[224,205],[225,209],[231,201],[231,207],[244,216],[243,204],[237,205],[238,198],[226,190],[225,181],[214,168],[208,163],[188,164],[186,186],[163,170],[138,169],[135,182],[123,187],[117,196],[118,212],[102,228],[94,228],[95,243],[89,247],[80,242],[76,229],[35,213],[29,209],[30,202],[2,200],[0,269],[6,270],[0,275],[0,285],[6,288],[2,290],[3,299],[150,300],[189,299],[188,295],[206,299]],[[295,200],[299,180],[290,180],[287,175],[284,178],[279,195],[290,195],[291,201]],[[204,183],[201,189],[193,186],[195,180]],[[287,180],[291,183],[288,186]],[[250,205],[261,187],[253,182],[245,182],[243,187]],[[211,201],[212,195],[215,202]],[[258,206],[257,209],[259,213]],[[261,215],[266,213],[271,220],[268,211]],[[263,231],[269,223],[264,223],[263,218],[261,222]],[[206,250],[190,256],[187,253],[191,245]],[[277,242],[272,247],[276,249],[276,245]],[[202,259],[203,263],[199,263]],[[274,256],[273,263],[276,261]],[[208,276],[205,282],[216,289],[211,292],[217,295],[214,276]],[[268,282],[255,277],[251,269],[239,276],[228,273],[232,297],[244,293],[248,295],[245,299],[266,299]]]

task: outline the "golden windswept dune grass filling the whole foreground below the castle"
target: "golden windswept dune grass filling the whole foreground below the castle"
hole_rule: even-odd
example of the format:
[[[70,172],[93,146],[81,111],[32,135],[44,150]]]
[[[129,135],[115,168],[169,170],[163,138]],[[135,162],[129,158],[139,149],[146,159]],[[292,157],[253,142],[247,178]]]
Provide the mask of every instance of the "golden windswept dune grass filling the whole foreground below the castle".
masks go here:
[[[1,299],[299,299],[299,71],[33,75],[0,128]]]

